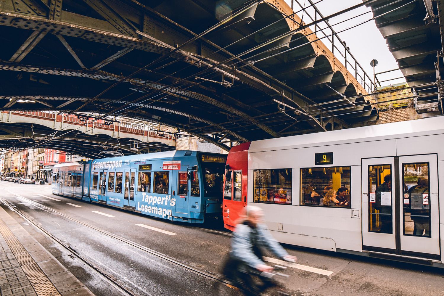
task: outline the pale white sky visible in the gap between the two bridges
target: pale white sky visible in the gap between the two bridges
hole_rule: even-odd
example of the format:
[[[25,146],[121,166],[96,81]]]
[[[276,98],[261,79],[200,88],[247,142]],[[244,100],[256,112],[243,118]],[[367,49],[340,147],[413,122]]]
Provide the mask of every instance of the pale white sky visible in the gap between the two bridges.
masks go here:
[[[287,4],[291,7],[291,1],[292,0],[285,0]],[[309,6],[310,3],[308,0],[297,0],[302,6]],[[312,0],[313,3],[316,4],[319,0]],[[305,5],[304,5],[305,3]],[[335,12],[339,12],[345,8],[349,8],[356,4],[361,4],[361,0],[323,0],[320,3],[316,4],[316,7],[319,9],[319,11],[322,13],[324,17],[329,16]],[[300,6],[297,4],[297,2],[293,3],[293,7],[295,11],[300,10]],[[307,8],[307,12],[310,16],[314,18],[314,9],[313,8]],[[364,12],[368,12],[364,14],[363,16],[359,16],[357,18],[354,18],[352,20],[348,20],[342,24],[337,24],[343,20],[346,20],[350,17],[360,15]],[[302,17],[302,12],[298,12],[297,15],[299,17]],[[317,19],[320,17],[317,16]],[[341,30],[344,30],[346,28],[352,27],[354,25],[360,24],[361,22],[365,20],[369,20],[373,18],[373,14],[371,13],[371,9],[367,8],[365,6],[361,6],[360,8],[356,8],[350,12],[344,13],[340,16],[334,17],[329,19],[329,24],[333,26],[333,29],[336,32],[339,32]],[[312,22],[312,20],[307,16],[305,13],[302,19],[305,24],[309,24]],[[326,28],[327,25],[325,23],[319,23],[319,26],[321,28]],[[311,28],[314,31],[314,27]],[[325,30],[326,34],[331,34],[331,31],[329,29]],[[317,33],[317,36],[319,38],[323,37],[321,33]],[[387,46],[387,43],[385,39],[382,37],[381,32],[376,28],[376,24],[374,20],[371,20],[365,24],[362,24],[360,26],[357,26],[355,28],[349,29],[347,31],[338,33],[338,36],[344,40],[347,43],[347,46],[350,47],[350,52],[352,55],[357,59],[357,62],[361,64],[361,66],[364,68],[364,70],[367,72],[367,74],[372,77],[373,79],[373,67],[370,66],[370,61],[372,59],[377,59],[378,65],[375,67],[375,72],[383,72],[388,71],[392,69],[398,69],[398,64],[396,63],[396,60],[393,58],[393,55],[389,51],[389,47]],[[325,43],[328,47],[330,47],[331,50],[331,43],[326,39],[321,39],[323,43]],[[335,40],[336,41],[336,40]],[[340,43],[336,43],[339,45]],[[335,48],[334,54],[337,57],[340,57],[339,54],[337,54]],[[342,51],[343,52],[343,51]],[[350,61],[349,57],[347,59]],[[340,57],[341,62],[344,64],[344,59]],[[353,63],[354,66],[354,63]],[[349,68],[350,66],[347,65]],[[354,71],[351,71],[354,74]],[[402,73],[400,70],[392,71],[389,73],[377,75],[377,78],[382,81],[386,79],[393,79],[397,77],[402,77]],[[358,79],[358,82],[361,82],[360,79]],[[381,83],[382,86],[390,85],[390,84],[396,84],[405,82],[405,79],[396,79],[391,80],[387,82]]]

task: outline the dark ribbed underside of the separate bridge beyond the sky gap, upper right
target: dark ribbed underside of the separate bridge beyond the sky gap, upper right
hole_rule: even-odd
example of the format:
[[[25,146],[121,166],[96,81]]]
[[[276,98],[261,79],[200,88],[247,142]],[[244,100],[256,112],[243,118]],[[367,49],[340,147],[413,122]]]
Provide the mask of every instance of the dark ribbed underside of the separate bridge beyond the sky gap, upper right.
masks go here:
[[[444,1],[379,0],[370,6],[408,85],[415,90],[416,111],[443,114]]]

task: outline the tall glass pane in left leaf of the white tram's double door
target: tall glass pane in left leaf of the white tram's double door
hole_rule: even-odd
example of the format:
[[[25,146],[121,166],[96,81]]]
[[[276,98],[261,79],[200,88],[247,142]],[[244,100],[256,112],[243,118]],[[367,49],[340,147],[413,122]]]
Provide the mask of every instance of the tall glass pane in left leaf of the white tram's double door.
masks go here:
[[[369,232],[393,233],[392,166],[369,166]]]

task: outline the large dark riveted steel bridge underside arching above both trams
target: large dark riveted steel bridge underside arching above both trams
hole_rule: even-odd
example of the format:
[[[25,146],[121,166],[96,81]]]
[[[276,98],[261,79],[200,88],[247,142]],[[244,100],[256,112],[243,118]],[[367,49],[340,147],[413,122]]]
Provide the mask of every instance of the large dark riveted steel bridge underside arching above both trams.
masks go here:
[[[376,119],[356,75],[283,0],[254,2],[5,0],[0,111],[127,116],[226,150]]]

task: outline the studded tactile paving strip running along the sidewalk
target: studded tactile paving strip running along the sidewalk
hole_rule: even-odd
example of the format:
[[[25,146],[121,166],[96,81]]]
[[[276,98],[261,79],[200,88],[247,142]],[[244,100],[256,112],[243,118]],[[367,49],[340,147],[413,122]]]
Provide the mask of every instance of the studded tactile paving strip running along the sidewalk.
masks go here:
[[[24,248],[20,241],[14,236],[8,226],[0,218],[0,233],[3,235],[9,248],[19,262],[23,272],[36,291],[38,296],[60,296],[59,291],[51,283],[48,277],[32,259],[28,251]]]

